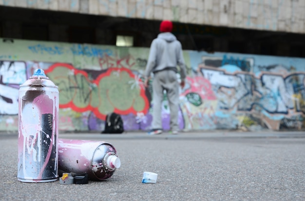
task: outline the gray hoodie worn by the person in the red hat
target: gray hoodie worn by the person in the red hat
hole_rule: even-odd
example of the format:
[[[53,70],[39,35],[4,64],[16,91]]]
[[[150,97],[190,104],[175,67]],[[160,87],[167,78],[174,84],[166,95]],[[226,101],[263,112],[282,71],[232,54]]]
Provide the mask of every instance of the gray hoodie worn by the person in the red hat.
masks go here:
[[[159,33],[152,41],[149,58],[145,70],[145,76],[149,77],[151,72],[180,67],[181,79],[186,77],[186,67],[182,54],[181,43],[170,32]]]

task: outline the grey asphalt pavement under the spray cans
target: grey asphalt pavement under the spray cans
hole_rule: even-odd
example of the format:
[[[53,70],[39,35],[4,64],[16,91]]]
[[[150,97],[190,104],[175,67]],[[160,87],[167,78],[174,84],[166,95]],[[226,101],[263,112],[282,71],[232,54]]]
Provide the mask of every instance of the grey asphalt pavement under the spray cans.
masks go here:
[[[89,184],[19,182],[17,137],[0,134],[0,200],[305,200],[305,132],[59,134],[115,147],[121,167]],[[141,183],[144,171],[157,173],[157,182]]]

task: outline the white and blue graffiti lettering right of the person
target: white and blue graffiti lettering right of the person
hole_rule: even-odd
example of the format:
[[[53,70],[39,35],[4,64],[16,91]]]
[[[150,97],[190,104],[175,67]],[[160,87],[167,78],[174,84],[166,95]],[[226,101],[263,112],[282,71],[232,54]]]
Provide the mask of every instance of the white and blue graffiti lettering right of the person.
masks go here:
[[[251,111],[259,107],[268,114],[305,114],[305,72],[283,75],[262,72],[257,78],[250,73],[226,73],[225,70],[201,67],[223,110]],[[300,81],[302,81],[300,83]],[[299,95],[296,98],[296,95]]]

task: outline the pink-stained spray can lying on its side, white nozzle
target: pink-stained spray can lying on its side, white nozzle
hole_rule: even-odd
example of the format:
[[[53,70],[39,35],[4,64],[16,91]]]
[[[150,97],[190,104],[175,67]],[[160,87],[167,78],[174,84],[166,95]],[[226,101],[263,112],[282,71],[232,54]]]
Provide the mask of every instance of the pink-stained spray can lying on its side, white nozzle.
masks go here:
[[[103,141],[58,139],[58,172],[87,173],[90,180],[109,179],[121,161],[114,146]]]

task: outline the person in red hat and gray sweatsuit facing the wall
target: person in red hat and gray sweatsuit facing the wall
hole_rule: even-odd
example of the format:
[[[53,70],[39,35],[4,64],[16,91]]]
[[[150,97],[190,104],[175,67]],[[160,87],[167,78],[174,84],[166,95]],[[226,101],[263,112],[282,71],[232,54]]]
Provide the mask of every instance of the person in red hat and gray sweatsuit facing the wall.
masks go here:
[[[181,43],[172,32],[172,22],[163,20],[160,32],[152,41],[147,66],[145,69],[144,85],[147,87],[151,73],[152,81],[152,130],[148,134],[161,134],[162,119],[161,105],[163,91],[166,91],[171,112],[172,134],[177,134],[179,112],[179,82],[177,66],[180,67],[180,86],[183,88],[186,78],[186,67],[182,54]]]

